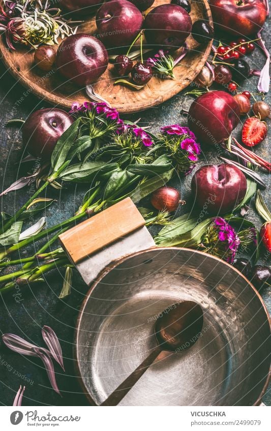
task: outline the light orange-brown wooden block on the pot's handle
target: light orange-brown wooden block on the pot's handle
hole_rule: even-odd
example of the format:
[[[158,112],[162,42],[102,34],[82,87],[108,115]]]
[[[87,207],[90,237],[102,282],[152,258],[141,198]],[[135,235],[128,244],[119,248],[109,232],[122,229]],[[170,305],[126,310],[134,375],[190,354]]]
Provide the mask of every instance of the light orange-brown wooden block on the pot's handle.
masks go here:
[[[144,224],[144,218],[127,197],[59,235],[59,241],[77,263]]]

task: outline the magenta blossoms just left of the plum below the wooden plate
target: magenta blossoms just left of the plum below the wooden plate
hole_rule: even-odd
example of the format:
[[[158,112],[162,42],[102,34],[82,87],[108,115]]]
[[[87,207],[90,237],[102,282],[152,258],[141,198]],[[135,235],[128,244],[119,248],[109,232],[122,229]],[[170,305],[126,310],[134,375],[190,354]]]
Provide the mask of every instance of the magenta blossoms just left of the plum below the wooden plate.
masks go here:
[[[200,154],[200,145],[198,144],[194,133],[189,127],[183,127],[179,124],[171,124],[169,126],[161,127],[162,134],[167,134],[177,137],[183,137],[184,139],[180,142],[180,148],[187,151],[188,158],[191,161],[197,161],[198,155]]]

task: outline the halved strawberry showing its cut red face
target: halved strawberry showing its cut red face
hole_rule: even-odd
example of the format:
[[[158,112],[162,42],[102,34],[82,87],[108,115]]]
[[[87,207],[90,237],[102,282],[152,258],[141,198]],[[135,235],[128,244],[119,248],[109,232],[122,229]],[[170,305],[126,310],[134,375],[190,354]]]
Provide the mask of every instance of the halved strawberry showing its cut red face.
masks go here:
[[[243,126],[242,141],[248,147],[254,147],[262,142],[267,136],[267,125],[258,117],[248,118]]]

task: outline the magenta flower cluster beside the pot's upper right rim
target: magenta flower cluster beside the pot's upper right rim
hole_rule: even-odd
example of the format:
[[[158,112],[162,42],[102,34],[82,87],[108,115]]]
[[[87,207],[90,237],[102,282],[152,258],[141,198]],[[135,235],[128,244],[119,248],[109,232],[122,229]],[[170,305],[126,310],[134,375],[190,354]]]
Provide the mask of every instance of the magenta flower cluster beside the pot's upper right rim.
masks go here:
[[[232,263],[240,246],[240,239],[233,227],[231,227],[224,218],[216,217],[213,223],[218,230],[218,241],[224,243],[225,251],[230,251],[230,256],[227,261]]]

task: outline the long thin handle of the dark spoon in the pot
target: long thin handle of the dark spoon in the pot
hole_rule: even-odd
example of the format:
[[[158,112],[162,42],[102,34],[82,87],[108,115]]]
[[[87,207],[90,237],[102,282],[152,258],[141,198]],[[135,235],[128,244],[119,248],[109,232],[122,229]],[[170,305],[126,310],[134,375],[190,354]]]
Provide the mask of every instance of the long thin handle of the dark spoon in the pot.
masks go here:
[[[159,353],[161,353],[161,347],[157,346],[152,352],[144,359],[141,364],[130,374],[123,383],[121,383],[108,398],[101,404],[101,406],[117,406],[119,402],[122,401],[124,396],[129,392],[129,390],[136,384],[141,376],[145,373],[153,361],[157,358]]]

